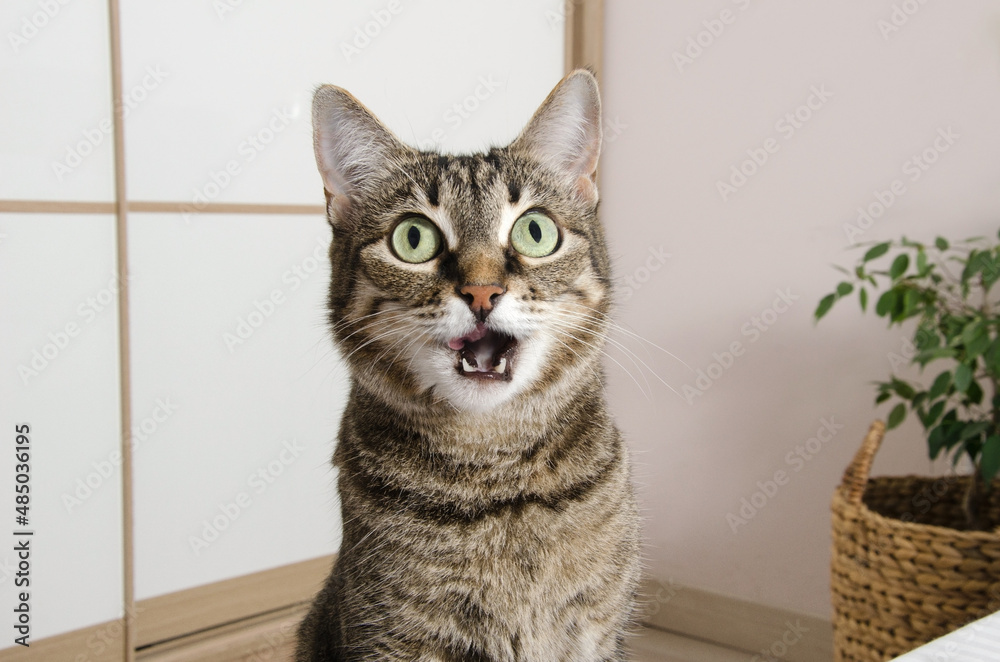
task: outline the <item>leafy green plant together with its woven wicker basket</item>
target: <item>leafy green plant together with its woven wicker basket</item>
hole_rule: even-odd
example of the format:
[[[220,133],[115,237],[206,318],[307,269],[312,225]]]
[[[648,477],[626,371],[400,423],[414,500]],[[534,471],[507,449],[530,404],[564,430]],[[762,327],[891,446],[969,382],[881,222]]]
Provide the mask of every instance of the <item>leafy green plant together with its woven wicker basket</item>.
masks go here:
[[[912,324],[909,363],[937,374],[876,382],[876,404],[893,405],[887,425],[872,425],[834,494],[838,660],[889,659],[1000,608],[1000,244],[904,237],[864,248],[815,318],[856,294],[890,327]],[[910,414],[930,457],[967,458],[971,475],[870,479],[883,432]]]

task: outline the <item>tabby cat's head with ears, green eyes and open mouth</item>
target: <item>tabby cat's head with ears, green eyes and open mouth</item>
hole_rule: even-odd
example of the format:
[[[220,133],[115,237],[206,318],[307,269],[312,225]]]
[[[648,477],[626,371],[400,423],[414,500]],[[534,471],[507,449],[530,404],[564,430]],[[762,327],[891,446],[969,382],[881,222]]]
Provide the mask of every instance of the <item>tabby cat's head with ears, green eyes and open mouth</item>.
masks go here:
[[[330,319],[355,380],[390,402],[481,412],[599,379],[600,117],[596,80],[576,71],[510,145],[450,156],[404,145],[343,89],[317,90]]]

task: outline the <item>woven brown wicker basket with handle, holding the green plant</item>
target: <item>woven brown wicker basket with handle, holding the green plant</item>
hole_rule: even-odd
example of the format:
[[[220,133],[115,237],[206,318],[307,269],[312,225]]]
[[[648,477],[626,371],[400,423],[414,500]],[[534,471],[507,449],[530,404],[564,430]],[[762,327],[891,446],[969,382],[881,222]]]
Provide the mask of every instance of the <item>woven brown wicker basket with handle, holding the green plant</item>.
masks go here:
[[[969,476],[868,478],[875,421],[833,497],[834,659],[889,660],[1000,609],[1000,532],[962,531]],[[984,517],[1000,524],[1000,481]]]

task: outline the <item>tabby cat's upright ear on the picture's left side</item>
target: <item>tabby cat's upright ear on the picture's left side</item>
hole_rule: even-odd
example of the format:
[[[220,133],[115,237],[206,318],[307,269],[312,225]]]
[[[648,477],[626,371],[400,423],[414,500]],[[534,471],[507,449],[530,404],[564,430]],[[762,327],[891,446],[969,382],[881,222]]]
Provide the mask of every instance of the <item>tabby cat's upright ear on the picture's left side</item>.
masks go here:
[[[313,96],[313,149],[328,200],[342,211],[407,147],[350,92],[323,85]]]

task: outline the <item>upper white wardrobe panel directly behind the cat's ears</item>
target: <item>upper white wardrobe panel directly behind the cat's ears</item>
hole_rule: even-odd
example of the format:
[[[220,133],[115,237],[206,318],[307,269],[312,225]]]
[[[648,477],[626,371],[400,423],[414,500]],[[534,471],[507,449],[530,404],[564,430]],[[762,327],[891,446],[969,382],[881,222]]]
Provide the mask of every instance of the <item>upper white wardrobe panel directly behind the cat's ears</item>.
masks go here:
[[[506,142],[562,76],[560,7],[124,3],[125,80],[140,80],[147,67],[162,78],[126,124],[129,194],[322,204],[309,113],[323,83],[348,89],[412,143],[468,150]],[[463,117],[453,106],[466,103]],[[213,178],[230,162],[237,176]]]

